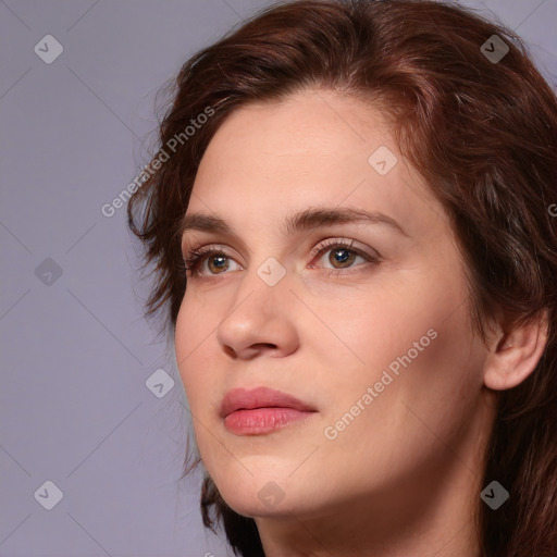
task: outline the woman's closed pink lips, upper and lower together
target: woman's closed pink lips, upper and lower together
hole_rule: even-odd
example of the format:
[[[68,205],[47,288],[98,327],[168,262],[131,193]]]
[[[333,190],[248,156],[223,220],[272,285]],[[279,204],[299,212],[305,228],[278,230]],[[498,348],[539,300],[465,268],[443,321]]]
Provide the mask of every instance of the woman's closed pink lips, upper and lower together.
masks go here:
[[[234,388],[223,398],[221,418],[236,435],[258,435],[304,420],[317,410],[296,397],[269,387]]]

